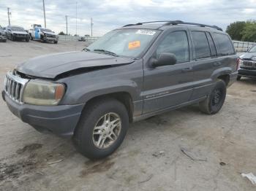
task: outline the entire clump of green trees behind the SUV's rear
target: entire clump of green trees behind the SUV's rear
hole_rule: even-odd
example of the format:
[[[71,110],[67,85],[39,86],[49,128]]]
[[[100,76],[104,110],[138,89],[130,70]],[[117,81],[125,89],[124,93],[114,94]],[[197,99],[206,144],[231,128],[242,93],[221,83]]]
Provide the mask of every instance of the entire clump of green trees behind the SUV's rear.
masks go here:
[[[256,21],[236,21],[227,26],[226,32],[233,40],[256,42]]]

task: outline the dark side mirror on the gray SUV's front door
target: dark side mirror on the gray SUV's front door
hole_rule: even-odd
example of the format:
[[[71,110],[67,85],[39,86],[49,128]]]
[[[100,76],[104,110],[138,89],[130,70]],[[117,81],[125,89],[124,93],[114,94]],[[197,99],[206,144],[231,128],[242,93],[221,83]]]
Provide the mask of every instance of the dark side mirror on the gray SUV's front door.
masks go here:
[[[167,53],[163,52],[159,55],[158,59],[151,59],[151,66],[157,67],[157,66],[167,66],[167,65],[174,65],[176,64],[177,59],[176,55],[173,53]]]

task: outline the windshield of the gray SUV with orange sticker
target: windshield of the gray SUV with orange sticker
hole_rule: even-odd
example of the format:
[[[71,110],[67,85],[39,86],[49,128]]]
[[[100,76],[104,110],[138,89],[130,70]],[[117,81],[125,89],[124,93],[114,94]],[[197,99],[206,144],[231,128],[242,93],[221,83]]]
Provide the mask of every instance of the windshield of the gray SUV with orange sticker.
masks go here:
[[[113,55],[137,57],[159,34],[157,30],[120,29],[110,31],[86,48],[87,51],[100,51]]]

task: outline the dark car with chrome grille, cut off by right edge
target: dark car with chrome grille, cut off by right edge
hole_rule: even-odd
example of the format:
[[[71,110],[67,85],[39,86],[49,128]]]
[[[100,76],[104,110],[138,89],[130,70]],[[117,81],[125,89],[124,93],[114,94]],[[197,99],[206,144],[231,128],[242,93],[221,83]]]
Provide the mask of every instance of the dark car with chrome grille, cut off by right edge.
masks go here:
[[[237,79],[241,77],[256,78],[256,46],[240,56]]]

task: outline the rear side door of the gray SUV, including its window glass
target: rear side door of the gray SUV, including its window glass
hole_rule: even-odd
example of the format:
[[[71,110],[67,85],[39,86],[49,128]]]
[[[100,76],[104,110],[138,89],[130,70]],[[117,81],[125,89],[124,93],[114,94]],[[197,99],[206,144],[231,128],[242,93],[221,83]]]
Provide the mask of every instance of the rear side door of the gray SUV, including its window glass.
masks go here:
[[[195,87],[191,100],[203,98],[211,92],[214,68],[221,65],[217,61],[217,50],[212,36],[207,31],[191,31],[193,46],[193,71]]]

